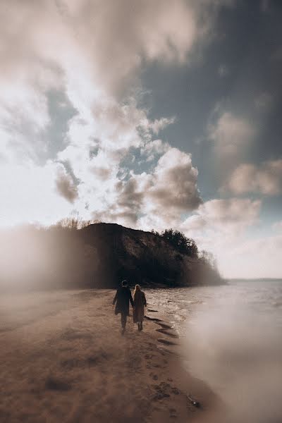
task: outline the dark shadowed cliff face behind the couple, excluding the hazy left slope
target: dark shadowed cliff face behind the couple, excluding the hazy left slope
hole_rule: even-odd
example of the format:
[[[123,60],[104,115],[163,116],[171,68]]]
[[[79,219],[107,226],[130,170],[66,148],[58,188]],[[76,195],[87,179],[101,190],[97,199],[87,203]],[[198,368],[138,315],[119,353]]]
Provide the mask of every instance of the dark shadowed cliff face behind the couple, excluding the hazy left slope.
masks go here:
[[[122,279],[143,286],[191,286],[222,283],[199,259],[180,254],[159,235],[114,223],[96,223],[79,231],[97,263],[94,286],[117,286]]]

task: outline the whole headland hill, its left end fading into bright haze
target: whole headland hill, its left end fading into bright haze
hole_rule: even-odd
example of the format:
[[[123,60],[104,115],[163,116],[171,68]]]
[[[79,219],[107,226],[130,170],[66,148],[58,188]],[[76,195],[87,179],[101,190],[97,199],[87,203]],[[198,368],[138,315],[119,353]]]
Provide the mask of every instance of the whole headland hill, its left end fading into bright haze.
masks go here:
[[[18,228],[3,233],[1,244],[4,288],[114,288],[124,278],[142,286],[223,282],[207,260],[189,257],[157,233],[115,223]]]

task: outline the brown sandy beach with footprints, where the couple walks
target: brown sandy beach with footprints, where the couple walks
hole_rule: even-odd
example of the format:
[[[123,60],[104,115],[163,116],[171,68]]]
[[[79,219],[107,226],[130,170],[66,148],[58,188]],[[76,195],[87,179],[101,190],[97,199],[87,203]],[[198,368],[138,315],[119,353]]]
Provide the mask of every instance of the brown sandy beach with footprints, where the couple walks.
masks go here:
[[[113,298],[113,290],[1,296],[0,422],[209,421],[216,396],[185,372],[169,322],[148,311],[142,332],[129,317],[121,336]]]

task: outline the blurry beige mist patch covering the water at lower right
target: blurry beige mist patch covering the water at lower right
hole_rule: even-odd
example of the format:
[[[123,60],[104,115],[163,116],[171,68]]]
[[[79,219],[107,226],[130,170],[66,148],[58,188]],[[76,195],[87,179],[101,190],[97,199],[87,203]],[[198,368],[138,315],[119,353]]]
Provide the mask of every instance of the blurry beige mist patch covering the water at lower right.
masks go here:
[[[217,412],[209,422],[282,422],[281,303],[270,300],[265,308],[275,291],[266,284],[265,300],[256,297],[256,289],[253,283],[257,309],[247,290],[236,298],[242,292],[235,287],[233,304],[223,305],[218,292],[214,304],[199,307],[193,321],[186,322],[188,368],[207,381],[228,410],[227,417]]]

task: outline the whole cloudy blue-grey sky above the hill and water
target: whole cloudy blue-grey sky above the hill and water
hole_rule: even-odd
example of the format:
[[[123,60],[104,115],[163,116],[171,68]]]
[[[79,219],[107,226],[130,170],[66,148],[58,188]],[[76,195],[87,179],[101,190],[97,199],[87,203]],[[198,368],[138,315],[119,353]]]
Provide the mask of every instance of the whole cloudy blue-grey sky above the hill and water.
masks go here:
[[[282,278],[282,4],[1,0],[0,225],[174,228]]]

